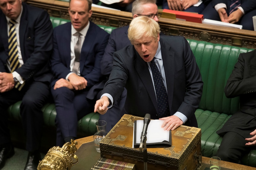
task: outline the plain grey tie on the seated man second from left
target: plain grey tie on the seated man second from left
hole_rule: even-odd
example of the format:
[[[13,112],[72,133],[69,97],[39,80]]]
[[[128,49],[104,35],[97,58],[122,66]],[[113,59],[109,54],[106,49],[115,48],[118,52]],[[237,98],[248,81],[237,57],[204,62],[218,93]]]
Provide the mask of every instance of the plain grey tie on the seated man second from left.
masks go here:
[[[72,69],[72,72],[78,75],[79,68],[80,68],[80,50],[81,50],[81,33],[77,32],[74,34],[75,36],[78,37],[78,41],[75,45],[75,63]]]

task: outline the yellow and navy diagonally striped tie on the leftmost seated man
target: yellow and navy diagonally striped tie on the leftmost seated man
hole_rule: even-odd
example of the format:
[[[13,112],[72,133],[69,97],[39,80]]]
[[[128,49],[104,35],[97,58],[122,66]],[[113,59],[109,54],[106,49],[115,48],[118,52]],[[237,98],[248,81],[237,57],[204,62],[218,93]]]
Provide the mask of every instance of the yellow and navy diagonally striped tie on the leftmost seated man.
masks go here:
[[[9,61],[10,61],[10,69],[11,72],[14,72],[16,69],[20,67],[20,62],[18,58],[18,48],[17,48],[17,36],[15,30],[15,20],[10,20],[10,29],[9,29],[9,37],[8,37],[8,49],[9,49]],[[25,82],[20,84],[19,82],[15,85],[15,88],[21,90]]]

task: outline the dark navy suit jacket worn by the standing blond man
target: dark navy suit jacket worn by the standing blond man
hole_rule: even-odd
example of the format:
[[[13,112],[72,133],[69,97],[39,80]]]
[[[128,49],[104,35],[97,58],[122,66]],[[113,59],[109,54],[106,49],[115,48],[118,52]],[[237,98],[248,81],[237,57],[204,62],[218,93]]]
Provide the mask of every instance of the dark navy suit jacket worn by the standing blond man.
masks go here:
[[[170,115],[180,111],[188,118],[185,125],[197,127],[195,110],[201,99],[203,82],[195,56],[184,37],[160,36],[160,44]],[[157,99],[147,63],[132,45],[115,52],[113,57],[113,69],[102,94],[109,93],[115,102],[125,87],[127,114],[144,117],[149,113],[152,119],[158,119]]]

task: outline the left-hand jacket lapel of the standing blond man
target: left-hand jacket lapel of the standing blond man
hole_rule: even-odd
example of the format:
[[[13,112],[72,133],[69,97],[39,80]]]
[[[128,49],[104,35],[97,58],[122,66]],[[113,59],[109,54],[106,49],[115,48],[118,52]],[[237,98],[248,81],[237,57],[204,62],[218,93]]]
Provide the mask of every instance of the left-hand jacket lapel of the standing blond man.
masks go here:
[[[157,98],[156,98],[156,94],[155,94],[155,91],[154,91],[153,82],[152,82],[152,79],[151,79],[151,76],[150,76],[150,73],[149,73],[149,70],[148,70],[148,65],[140,57],[140,55],[137,53],[137,51],[135,49],[134,49],[134,51],[135,51],[135,56],[136,56],[136,59],[134,60],[135,69],[138,72],[138,75],[139,75],[145,89],[147,90],[148,95],[149,95],[155,109],[158,112]]]

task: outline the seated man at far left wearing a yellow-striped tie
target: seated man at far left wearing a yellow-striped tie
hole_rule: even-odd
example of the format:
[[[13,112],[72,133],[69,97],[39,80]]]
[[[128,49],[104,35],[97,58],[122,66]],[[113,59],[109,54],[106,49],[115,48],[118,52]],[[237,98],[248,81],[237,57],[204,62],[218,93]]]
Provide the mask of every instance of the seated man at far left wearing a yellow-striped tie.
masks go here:
[[[0,9],[0,169],[14,154],[7,109],[22,100],[20,114],[29,151],[25,170],[36,170],[41,160],[41,109],[52,79],[52,23],[46,11],[21,0],[0,0]]]

